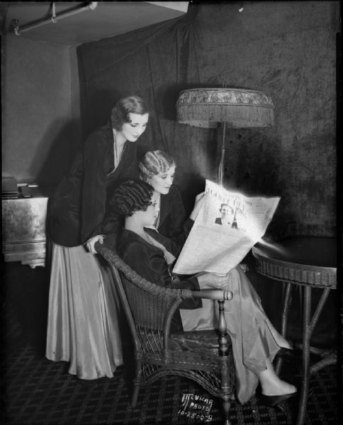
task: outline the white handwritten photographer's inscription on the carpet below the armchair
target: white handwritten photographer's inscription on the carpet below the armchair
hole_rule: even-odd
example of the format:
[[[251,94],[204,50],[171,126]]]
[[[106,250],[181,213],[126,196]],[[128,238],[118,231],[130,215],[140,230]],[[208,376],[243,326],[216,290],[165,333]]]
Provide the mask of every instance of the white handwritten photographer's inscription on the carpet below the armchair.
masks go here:
[[[181,409],[179,409],[179,412],[177,412],[179,415],[186,416],[190,419],[195,419],[197,423],[199,421],[212,421],[210,409],[212,408],[213,399],[183,393],[181,404]]]

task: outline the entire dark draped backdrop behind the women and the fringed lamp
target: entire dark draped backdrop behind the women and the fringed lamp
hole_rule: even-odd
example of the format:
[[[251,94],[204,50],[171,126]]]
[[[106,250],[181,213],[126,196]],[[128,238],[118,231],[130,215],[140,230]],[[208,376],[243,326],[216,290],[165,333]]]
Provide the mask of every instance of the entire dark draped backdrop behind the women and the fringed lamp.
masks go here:
[[[145,98],[152,117],[140,145],[176,159],[176,183],[191,208],[205,179],[217,179],[220,132],[176,123],[179,91],[264,91],[275,104],[274,127],[227,132],[225,186],[281,196],[267,231],[273,237],[332,236],[338,30],[338,1],[211,3],[154,39],[150,28],[82,45],[86,125],[105,120],[120,96]]]

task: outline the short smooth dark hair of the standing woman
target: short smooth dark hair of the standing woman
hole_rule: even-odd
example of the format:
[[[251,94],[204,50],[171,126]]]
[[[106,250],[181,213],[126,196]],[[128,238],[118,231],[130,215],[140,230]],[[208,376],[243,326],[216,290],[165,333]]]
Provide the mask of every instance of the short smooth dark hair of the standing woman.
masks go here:
[[[120,131],[124,123],[130,123],[129,113],[144,115],[149,109],[142,98],[138,96],[127,96],[118,100],[111,112],[111,125]]]

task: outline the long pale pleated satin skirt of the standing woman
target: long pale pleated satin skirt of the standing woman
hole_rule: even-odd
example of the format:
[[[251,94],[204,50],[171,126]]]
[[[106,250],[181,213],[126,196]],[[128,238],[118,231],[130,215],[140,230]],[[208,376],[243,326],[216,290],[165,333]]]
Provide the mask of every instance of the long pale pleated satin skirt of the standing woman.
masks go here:
[[[46,357],[81,379],[112,378],[123,364],[117,302],[106,263],[84,246],[53,244]]]

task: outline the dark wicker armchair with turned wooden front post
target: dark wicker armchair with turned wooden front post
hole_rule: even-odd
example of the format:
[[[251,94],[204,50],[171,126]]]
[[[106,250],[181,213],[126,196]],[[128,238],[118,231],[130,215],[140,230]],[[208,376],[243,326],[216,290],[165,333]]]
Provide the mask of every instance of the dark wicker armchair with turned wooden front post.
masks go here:
[[[232,299],[226,290],[161,288],[132,270],[106,244],[96,251],[113,266],[120,300],[133,336],[135,378],[131,407],[137,403],[140,383],[164,375],[180,375],[198,382],[223,402],[224,424],[230,425],[230,400],[234,398],[235,368],[230,336],[227,335],[224,301]],[[182,300],[202,297],[218,300],[219,326],[216,331],[172,334],[171,318]]]

